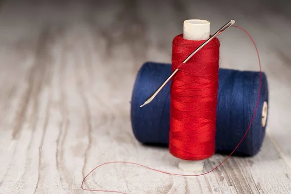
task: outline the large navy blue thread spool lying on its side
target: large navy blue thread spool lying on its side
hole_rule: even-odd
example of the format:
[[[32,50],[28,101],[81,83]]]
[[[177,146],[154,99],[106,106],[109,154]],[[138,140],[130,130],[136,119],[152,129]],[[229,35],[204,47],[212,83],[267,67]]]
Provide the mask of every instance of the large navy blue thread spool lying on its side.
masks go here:
[[[139,106],[170,74],[171,65],[159,63],[145,63],[137,74],[131,98],[131,124],[136,139],[141,143],[169,143],[170,83],[150,104],[143,108]],[[229,154],[242,139],[253,116],[258,92],[259,72],[219,69],[216,153]],[[265,136],[268,97],[267,77],[262,72],[255,119],[234,155],[254,156],[259,152]]]

